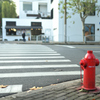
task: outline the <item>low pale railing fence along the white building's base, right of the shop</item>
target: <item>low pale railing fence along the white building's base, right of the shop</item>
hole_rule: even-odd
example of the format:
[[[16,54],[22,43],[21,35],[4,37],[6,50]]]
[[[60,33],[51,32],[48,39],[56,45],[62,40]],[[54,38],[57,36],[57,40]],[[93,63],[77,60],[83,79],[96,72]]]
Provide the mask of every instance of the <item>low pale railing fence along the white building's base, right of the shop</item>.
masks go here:
[[[55,42],[58,39],[56,36],[45,36],[45,35],[38,35],[36,36],[36,41],[42,41],[44,43],[47,42]],[[58,42],[65,42],[64,36],[59,37]],[[82,35],[72,35],[67,36],[66,42],[83,42],[83,36]],[[100,42],[100,35],[87,35],[84,36],[85,42]]]

